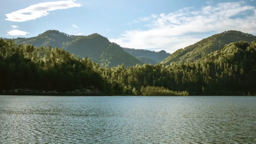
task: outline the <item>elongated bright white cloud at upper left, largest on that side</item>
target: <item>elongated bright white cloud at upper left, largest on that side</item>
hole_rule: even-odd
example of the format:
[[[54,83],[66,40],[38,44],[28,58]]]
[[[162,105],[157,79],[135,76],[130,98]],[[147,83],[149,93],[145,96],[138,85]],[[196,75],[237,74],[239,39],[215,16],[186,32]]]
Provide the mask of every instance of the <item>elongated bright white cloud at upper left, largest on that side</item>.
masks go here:
[[[57,1],[57,2],[45,2],[35,5],[30,5],[27,8],[14,11],[10,14],[5,14],[6,19],[13,22],[26,22],[28,20],[33,20],[42,16],[47,16],[50,11],[55,11],[57,9],[67,9],[72,7],[80,7],[81,4],[74,3],[74,1]],[[30,14],[25,14],[30,13]]]

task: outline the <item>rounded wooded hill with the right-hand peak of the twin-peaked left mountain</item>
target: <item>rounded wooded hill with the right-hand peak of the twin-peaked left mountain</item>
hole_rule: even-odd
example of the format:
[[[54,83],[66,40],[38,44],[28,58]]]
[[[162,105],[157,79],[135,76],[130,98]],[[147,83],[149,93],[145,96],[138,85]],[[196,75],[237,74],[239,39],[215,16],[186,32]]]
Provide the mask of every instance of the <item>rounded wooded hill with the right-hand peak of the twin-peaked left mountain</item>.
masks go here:
[[[136,57],[126,53],[119,45],[109,42],[99,34],[80,36],[71,42],[63,43],[63,48],[80,57],[89,57],[102,66],[134,66],[142,64]]]

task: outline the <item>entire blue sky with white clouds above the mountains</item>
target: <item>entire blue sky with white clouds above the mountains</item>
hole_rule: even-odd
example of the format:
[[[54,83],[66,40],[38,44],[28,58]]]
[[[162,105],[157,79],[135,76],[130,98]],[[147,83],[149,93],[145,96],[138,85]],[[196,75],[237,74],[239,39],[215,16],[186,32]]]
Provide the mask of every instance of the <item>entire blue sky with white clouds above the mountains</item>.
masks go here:
[[[0,37],[98,33],[169,53],[225,30],[256,35],[256,0],[2,0]]]

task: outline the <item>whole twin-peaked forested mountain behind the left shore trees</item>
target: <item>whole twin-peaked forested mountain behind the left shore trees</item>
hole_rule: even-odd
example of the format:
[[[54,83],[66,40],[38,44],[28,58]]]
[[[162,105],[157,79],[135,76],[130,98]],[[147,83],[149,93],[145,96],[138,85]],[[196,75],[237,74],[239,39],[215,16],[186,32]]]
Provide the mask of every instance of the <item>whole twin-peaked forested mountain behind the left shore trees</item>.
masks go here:
[[[58,30],[47,30],[46,32],[30,38],[15,38],[16,44],[32,44],[36,47],[51,45],[52,48],[59,47],[68,50],[75,57],[89,57],[93,62],[102,66],[113,67],[121,65],[134,66],[143,64],[136,57],[126,53],[122,47],[109,42],[106,37],[99,34],[88,36],[68,35]]]

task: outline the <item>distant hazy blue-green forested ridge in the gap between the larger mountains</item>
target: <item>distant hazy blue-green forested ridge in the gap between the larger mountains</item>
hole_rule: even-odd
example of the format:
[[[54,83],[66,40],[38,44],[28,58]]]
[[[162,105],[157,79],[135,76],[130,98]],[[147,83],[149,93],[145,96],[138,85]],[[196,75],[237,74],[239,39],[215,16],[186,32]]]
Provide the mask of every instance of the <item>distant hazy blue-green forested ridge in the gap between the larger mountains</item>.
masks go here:
[[[147,49],[134,49],[134,48],[123,48],[125,52],[135,57],[148,57],[156,61],[162,61],[170,55],[170,53],[161,50],[159,52],[147,50]]]

